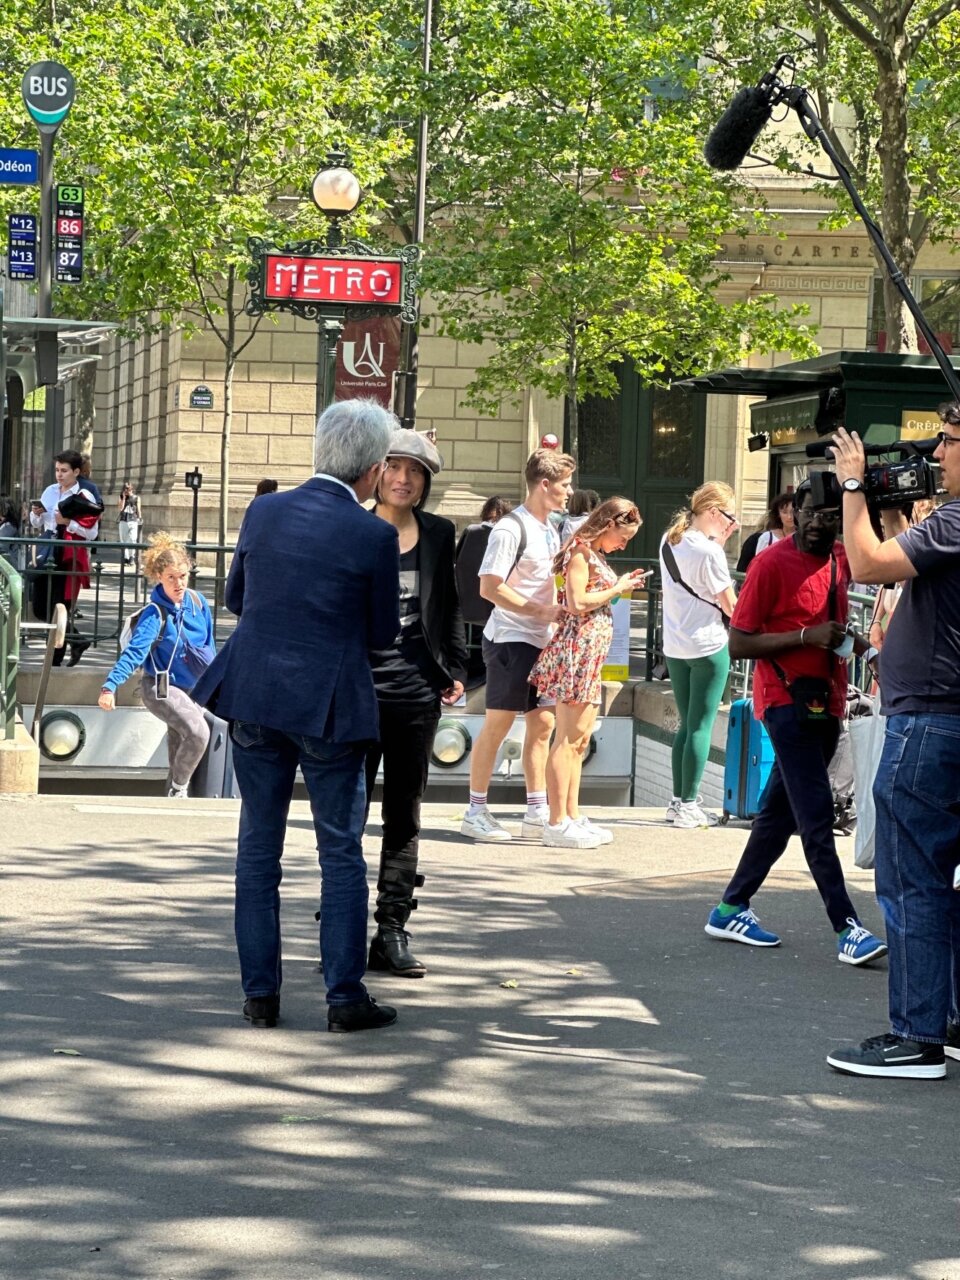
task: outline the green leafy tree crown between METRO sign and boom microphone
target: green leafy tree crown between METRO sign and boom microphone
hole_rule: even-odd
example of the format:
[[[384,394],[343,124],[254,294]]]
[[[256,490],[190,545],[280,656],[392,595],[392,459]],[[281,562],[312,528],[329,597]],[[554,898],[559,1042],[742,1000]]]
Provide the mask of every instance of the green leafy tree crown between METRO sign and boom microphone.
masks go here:
[[[620,361],[664,381],[810,352],[771,298],[721,301],[721,236],[746,228],[701,159],[691,49],[669,19],[603,0],[442,6],[425,278],[443,333],[493,339],[467,389],[481,410],[522,387],[564,397],[575,447],[577,403],[612,394]]]

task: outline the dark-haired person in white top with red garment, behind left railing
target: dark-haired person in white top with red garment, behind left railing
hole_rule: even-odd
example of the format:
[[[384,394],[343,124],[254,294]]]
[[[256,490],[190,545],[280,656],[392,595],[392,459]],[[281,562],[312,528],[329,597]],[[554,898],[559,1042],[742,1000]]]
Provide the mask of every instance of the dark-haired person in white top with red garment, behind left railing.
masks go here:
[[[65,499],[77,497],[73,506],[99,507],[102,513],[104,506],[96,494],[86,486],[81,476],[83,458],[76,449],[64,449],[54,460],[54,475],[56,480],[47,485],[37,504],[31,506],[29,522],[33,529],[44,529],[52,534],[58,541],[63,541],[63,548],[58,547],[56,568],[52,573],[38,577],[33,588],[33,612],[38,618],[50,622],[58,604],[67,605],[69,614],[67,637],[70,645],[70,660],[68,666],[76,667],[86,650],[92,644],[83,640],[74,630],[73,612],[77,607],[77,596],[84,586],[90,586],[90,552],[84,543],[93,541],[100,527],[100,515],[84,511],[70,512],[70,504]],[[61,511],[67,507],[68,513]],[[42,508],[42,511],[41,511]],[[63,664],[67,645],[54,650],[54,666]]]

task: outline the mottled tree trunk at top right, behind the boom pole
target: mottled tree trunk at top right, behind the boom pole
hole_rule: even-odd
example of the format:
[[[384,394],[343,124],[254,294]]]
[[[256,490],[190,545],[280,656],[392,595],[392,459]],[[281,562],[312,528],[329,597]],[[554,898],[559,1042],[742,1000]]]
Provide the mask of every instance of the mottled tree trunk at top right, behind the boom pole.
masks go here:
[[[908,154],[908,83],[902,32],[890,37],[890,55],[877,59],[877,91],[874,95],[881,113],[877,155],[881,163],[883,238],[905,276],[916,260],[916,247],[910,237],[910,183],[904,157]],[[916,324],[906,308],[896,285],[883,275],[883,311],[886,316],[886,349],[908,353],[918,349]]]

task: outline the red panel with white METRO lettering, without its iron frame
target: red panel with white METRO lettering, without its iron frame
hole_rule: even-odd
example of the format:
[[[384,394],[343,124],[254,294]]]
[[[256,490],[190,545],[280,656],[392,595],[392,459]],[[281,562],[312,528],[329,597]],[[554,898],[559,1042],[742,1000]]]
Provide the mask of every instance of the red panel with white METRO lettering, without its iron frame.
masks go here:
[[[397,259],[268,253],[264,271],[264,298],[271,302],[401,303],[403,262]]]

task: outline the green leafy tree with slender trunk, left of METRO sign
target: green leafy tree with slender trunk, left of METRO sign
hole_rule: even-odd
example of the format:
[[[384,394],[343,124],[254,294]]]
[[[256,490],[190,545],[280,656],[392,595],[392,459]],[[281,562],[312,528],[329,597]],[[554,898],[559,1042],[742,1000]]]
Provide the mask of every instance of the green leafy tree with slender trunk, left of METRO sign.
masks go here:
[[[355,116],[378,100],[365,69],[376,59],[364,54],[379,47],[375,15],[328,0],[73,0],[40,10],[13,0],[0,23],[0,113],[19,122],[26,145],[22,72],[52,56],[77,79],[56,165],[86,182],[88,259],[83,285],[58,291],[58,310],[129,328],[186,312],[223,346],[223,541],[233,375],[252,337],[239,324],[247,238],[323,237],[324,219],[305,197],[332,145],[347,147],[367,186],[406,146],[398,129],[351,132],[340,110],[347,97]],[[343,47],[355,59],[349,83]],[[375,209],[361,212],[361,229]]]

